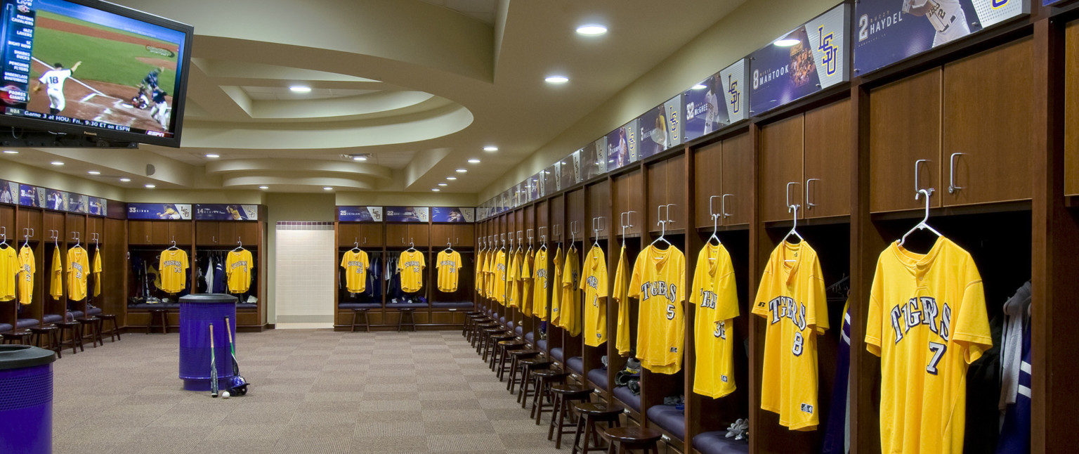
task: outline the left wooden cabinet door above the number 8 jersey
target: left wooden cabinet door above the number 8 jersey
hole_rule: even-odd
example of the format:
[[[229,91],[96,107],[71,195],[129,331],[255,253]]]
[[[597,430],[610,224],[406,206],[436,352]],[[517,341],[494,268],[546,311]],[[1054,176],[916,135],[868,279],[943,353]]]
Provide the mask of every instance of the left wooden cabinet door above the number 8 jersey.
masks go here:
[[[793,216],[789,205],[805,209],[802,179],[805,119],[795,115],[761,128],[761,180],[757,204],[762,221],[782,221]],[[794,184],[788,184],[793,182]],[[788,185],[790,188],[788,188]]]

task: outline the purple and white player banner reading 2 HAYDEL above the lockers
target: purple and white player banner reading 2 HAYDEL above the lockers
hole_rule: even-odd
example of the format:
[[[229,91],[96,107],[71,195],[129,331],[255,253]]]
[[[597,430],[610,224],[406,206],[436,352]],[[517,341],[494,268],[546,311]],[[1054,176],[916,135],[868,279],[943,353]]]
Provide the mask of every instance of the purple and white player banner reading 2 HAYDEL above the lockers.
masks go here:
[[[866,74],[1028,12],[1026,0],[861,0],[855,8],[855,73]]]

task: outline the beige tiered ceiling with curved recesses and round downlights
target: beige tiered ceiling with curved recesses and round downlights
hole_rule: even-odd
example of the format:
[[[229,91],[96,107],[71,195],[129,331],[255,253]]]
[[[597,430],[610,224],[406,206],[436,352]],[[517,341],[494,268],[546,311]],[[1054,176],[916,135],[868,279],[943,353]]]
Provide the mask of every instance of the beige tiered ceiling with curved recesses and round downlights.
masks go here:
[[[194,26],[183,147],[0,159],[131,188],[473,194],[743,0],[117,2]]]

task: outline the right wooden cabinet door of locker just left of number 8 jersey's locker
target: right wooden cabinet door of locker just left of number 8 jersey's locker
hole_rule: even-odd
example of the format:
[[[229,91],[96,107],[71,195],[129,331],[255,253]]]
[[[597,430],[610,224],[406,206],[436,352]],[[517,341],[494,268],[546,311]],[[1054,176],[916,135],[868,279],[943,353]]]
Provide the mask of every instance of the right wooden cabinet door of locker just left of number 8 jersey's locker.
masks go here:
[[[723,163],[720,166],[721,194],[719,210],[725,210],[723,225],[748,224],[753,219],[753,141],[749,133],[723,141]]]

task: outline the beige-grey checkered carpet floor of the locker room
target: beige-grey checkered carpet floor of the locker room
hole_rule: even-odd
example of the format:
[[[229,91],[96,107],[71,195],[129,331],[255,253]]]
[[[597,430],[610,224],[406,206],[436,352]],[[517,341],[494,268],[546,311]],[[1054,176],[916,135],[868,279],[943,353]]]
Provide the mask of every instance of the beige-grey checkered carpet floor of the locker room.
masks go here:
[[[125,334],[57,360],[54,452],[560,452],[460,331],[241,333],[251,386],[229,400],[181,389],[178,343]]]

